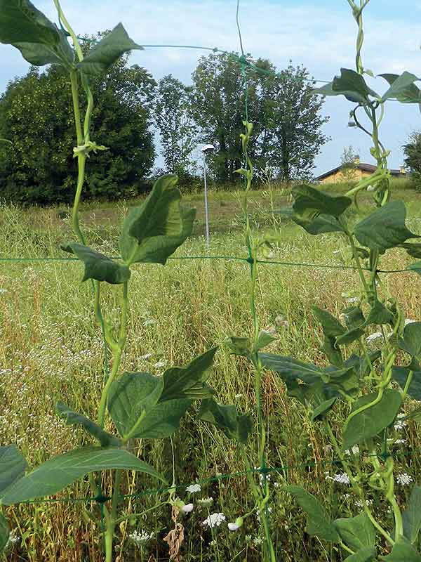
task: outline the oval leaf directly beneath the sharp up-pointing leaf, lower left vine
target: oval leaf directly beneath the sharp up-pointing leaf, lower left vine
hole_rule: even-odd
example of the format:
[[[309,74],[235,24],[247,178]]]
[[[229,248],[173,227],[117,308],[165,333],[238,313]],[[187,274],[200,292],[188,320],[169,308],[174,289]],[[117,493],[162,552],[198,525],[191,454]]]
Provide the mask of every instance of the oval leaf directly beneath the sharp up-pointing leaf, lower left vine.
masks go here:
[[[192,400],[175,398],[159,402],[145,415],[133,437],[139,439],[163,439],[180,428],[180,419],[192,405]]]

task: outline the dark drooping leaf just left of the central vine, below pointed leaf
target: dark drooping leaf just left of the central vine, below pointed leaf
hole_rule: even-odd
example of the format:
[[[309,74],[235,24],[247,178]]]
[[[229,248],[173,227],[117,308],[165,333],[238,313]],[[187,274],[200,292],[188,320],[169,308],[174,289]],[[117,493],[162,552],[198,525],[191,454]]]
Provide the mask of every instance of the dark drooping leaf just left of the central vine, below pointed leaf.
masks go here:
[[[253,427],[248,414],[239,414],[234,405],[223,406],[213,398],[203,400],[197,417],[218,427],[229,439],[239,443],[246,443]]]

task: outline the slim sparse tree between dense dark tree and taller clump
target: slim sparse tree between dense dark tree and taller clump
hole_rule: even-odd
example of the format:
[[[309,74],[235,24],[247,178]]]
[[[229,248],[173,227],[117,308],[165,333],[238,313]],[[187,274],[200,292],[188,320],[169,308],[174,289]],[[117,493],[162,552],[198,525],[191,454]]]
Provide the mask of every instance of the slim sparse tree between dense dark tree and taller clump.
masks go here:
[[[189,115],[189,88],[172,74],[159,80],[155,121],[161,136],[166,171],[183,175],[189,171],[196,127]]]

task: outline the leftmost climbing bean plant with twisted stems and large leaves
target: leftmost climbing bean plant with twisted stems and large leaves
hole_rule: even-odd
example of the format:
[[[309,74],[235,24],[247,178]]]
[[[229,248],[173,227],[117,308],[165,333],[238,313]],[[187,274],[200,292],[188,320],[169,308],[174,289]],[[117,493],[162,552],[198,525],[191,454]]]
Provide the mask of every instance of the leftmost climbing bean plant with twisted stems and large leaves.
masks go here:
[[[235,407],[220,407],[215,400],[211,400],[214,391],[206,384],[206,380],[216,348],[195,358],[187,367],[166,370],[162,377],[147,372],[121,373],[133,266],[139,263],[164,265],[192,233],[195,210],[181,206],[176,176],[163,176],[156,181],[147,199],[131,209],[123,221],[118,248],[122,261],[111,259],[87,245],[79,224],[79,202],[86,162],[97,150],[107,150],[91,140],[94,100],[89,80],[107,72],[123,53],[142,47],[135,44],[123,25],[119,24],[86,52],[65,17],[60,1],[54,0],[54,4],[60,28],[28,0],[0,0],[0,42],[18,48],[23,58],[32,65],[60,65],[69,73],[76,129],[74,157],[79,170],[72,211],[77,241],[65,242],[62,249],[74,254],[83,263],[83,281],[91,280],[93,284],[93,309],[105,341],[105,384],[100,391],[96,419],[75,412],[65,403],[56,405],[58,416],[67,424],[86,430],[93,440],[92,445],[48,459],[34,469],[29,469],[26,459],[15,445],[0,447],[0,504],[11,506],[56,495],[79,479],[88,478],[97,509],[85,510],[85,514],[88,519],[98,523],[105,560],[110,562],[118,525],[128,518],[133,521],[142,515],[128,513],[124,507],[124,471],[143,473],[155,481],[161,481],[161,485],[168,486],[168,499],[159,505],[169,504],[173,509],[175,540],[177,529],[180,528],[177,517],[183,511],[184,503],[175,495],[175,476],[168,485],[165,476],[134,454],[136,441],[170,437],[178,429],[180,419],[187,410],[201,400],[203,405],[199,417],[218,421],[218,426],[227,433],[233,424],[238,429],[238,416]],[[83,117],[79,100],[81,91],[86,96]],[[103,283],[119,291],[120,318],[117,331],[102,311]],[[105,471],[110,471],[113,481],[112,495],[109,497],[103,494],[101,488]],[[6,547],[8,536],[8,523],[4,514],[0,513],[0,551]]]

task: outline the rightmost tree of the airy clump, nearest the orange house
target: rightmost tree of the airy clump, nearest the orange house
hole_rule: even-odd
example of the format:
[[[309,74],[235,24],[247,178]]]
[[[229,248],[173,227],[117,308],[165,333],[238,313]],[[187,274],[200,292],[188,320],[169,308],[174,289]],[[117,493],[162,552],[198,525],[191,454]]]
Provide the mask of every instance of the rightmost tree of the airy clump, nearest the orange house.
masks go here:
[[[271,163],[281,181],[309,178],[316,155],[329,140],[321,133],[329,119],[321,115],[324,100],[312,94],[314,81],[303,66],[289,65],[269,78],[269,84],[265,119],[271,124]]]

